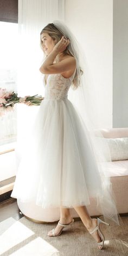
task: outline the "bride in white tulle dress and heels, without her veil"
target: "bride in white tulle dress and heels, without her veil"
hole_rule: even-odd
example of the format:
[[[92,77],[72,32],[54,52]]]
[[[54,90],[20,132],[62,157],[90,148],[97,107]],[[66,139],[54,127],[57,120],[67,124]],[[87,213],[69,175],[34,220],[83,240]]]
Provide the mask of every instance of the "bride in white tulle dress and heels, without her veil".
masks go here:
[[[86,208],[89,197],[102,194],[103,188],[82,120],[67,98],[69,87],[79,86],[76,58],[68,50],[70,43],[68,36],[63,35],[54,23],[49,23],[41,31],[41,47],[46,58],[40,72],[44,74],[45,95],[33,129],[35,148],[28,143],[31,159],[29,162],[29,156],[24,156],[21,161],[21,170],[19,168],[11,196],[22,199],[20,183],[25,175],[24,200],[30,190],[28,199],[31,194],[35,195],[37,205],[44,208],[60,207],[60,220],[48,232],[49,236],[60,235],[63,227],[73,223],[69,209],[74,208],[101,249],[104,235],[99,223],[109,224],[99,218],[91,218]],[[31,170],[30,174],[28,169]]]

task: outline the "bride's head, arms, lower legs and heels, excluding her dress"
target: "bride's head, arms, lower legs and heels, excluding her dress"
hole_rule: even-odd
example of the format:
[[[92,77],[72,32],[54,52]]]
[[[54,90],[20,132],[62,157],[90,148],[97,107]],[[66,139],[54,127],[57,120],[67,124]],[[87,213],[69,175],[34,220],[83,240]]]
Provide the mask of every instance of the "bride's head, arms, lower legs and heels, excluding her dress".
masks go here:
[[[47,79],[49,74],[59,73],[64,78],[71,78],[71,76],[73,75],[76,69],[76,61],[74,56],[67,54],[65,51],[70,41],[69,39],[65,39],[64,36],[62,37],[61,36],[62,35],[59,33],[59,31],[58,31],[58,34],[56,33],[56,29],[52,24],[49,24],[41,32],[42,47],[43,47],[44,53],[47,55],[47,59],[43,62],[43,65],[40,67],[40,71],[41,73],[46,74],[45,75],[46,84],[47,84]],[[59,37],[61,37],[61,40],[57,42]],[[59,55],[60,62],[54,64],[53,62],[57,55]],[[78,206],[78,207],[74,207],[74,209],[79,214],[87,230],[89,232],[92,232],[98,225],[98,219],[94,219],[94,218],[92,219],[91,216],[89,216],[86,206]],[[54,230],[48,232],[48,235],[49,236],[60,235],[63,228],[63,226],[61,225],[69,225],[69,223],[72,223],[72,222],[73,222],[73,218],[71,216],[69,208],[60,207],[60,221]],[[102,241],[97,230],[93,232],[92,235],[98,243]],[[98,245],[99,249],[101,247],[102,247],[102,244]]]

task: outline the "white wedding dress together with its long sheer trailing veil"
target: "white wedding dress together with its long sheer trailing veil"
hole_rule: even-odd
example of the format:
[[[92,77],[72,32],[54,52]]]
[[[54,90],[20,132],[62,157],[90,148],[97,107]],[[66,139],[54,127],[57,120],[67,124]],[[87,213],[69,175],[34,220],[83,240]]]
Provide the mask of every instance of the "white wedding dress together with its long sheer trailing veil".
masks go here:
[[[97,104],[90,94],[95,86],[90,83],[87,59],[65,23],[54,21],[54,25],[70,40],[68,51],[75,57],[76,69],[70,78],[49,74],[45,82],[43,76],[44,99],[25,132],[23,148],[18,142],[15,149],[18,155],[20,148],[22,156],[17,159],[11,197],[42,208],[87,206],[95,199],[105,222],[109,219],[119,225],[112,183],[106,175],[111,154],[97,129]],[[70,94],[73,79],[80,86]]]

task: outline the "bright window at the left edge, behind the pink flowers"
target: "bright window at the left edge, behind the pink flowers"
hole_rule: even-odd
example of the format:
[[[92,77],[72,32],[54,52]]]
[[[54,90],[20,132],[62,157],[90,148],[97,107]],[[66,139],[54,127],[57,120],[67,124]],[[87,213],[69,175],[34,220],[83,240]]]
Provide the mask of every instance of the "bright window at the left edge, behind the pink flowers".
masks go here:
[[[0,87],[17,92],[18,23],[0,22]],[[0,117],[0,146],[16,142],[17,106]]]

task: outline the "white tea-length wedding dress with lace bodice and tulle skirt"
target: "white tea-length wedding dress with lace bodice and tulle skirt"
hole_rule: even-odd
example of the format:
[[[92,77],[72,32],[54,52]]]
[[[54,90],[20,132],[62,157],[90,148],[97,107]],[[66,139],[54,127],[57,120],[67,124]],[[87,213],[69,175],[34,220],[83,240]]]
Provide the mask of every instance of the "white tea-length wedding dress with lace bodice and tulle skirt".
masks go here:
[[[73,208],[102,194],[88,130],[68,99],[73,78],[50,74],[46,84],[43,76],[44,100],[27,135],[11,193],[21,202]]]

